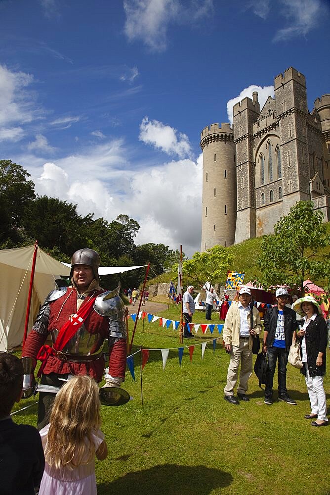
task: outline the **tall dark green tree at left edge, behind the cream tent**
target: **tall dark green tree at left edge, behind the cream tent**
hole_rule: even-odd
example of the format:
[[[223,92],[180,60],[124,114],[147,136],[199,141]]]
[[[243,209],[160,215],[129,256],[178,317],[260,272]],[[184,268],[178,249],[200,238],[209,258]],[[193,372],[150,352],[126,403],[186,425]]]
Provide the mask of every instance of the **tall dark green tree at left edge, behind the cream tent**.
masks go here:
[[[30,174],[11,160],[0,160],[0,241],[7,238],[19,241],[25,208],[35,198]]]

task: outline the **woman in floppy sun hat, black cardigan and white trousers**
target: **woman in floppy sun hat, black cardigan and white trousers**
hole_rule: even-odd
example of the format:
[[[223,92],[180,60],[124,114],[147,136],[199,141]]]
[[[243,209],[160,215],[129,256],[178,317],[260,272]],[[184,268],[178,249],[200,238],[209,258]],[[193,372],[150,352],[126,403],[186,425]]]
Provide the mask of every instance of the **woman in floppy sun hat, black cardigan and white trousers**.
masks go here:
[[[303,316],[302,328],[297,332],[303,362],[301,373],[305,375],[311,403],[311,413],[306,419],[314,419],[312,426],[327,426],[327,401],[323,387],[326,373],[327,324],[319,303],[311,296],[300,297],[293,309]]]

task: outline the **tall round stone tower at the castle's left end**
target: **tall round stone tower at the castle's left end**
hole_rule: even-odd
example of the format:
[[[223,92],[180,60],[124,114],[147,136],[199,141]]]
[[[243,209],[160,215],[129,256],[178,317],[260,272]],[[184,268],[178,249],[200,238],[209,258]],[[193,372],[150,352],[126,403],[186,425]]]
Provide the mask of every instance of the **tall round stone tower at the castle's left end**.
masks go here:
[[[230,124],[212,124],[201,132],[203,151],[201,252],[231,246],[236,226],[236,147]]]

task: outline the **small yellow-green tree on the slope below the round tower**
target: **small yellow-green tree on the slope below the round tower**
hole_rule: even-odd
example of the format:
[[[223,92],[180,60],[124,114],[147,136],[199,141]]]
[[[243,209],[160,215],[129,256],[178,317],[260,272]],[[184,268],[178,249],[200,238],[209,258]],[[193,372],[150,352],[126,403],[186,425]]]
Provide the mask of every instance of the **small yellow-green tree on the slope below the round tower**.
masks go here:
[[[183,275],[188,275],[197,284],[224,280],[234,256],[228,247],[214,246],[205,252],[195,252],[192,259],[183,262]]]

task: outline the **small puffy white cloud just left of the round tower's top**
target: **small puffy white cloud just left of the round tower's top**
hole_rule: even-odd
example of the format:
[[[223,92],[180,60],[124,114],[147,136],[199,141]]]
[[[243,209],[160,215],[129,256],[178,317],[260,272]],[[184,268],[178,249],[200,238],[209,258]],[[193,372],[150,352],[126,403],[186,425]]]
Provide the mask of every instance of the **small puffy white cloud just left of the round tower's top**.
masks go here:
[[[179,158],[191,156],[188,136],[158,120],[144,117],[140,124],[139,140],[161,149],[168,155],[177,155]]]

